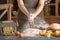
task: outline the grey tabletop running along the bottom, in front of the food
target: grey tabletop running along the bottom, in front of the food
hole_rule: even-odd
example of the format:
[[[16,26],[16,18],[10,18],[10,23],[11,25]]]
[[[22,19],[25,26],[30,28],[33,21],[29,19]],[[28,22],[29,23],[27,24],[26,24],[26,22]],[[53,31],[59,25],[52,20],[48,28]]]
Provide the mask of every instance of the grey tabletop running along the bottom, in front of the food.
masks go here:
[[[0,40],[60,40],[60,37],[16,37],[16,36],[0,36]]]

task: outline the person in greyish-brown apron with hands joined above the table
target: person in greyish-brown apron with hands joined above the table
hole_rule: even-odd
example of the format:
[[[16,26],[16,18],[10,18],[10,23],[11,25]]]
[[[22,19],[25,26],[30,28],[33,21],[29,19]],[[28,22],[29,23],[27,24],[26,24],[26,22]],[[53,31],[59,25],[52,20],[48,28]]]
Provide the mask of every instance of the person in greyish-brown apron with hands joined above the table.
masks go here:
[[[18,21],[22,32],[29,28],[46,29],[49,27],[42,13],[45,0],[17,0],[17,2],[20,9]]]

